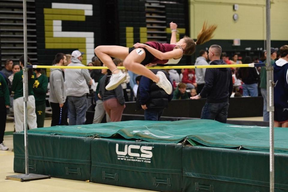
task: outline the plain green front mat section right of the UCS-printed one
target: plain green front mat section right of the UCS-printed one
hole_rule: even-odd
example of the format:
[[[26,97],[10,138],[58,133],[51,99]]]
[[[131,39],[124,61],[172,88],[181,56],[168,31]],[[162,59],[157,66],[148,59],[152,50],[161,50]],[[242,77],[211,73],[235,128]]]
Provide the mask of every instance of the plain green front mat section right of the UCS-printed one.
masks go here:
[[[288,191],[288,155],[275,153],[275,192]],[[183,147],[183,191],[269,192],[269,153]]]

